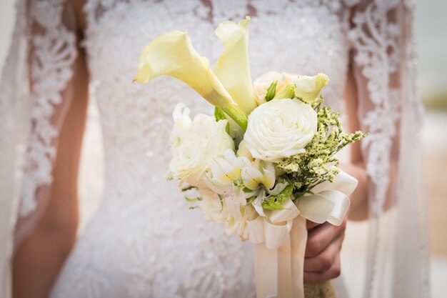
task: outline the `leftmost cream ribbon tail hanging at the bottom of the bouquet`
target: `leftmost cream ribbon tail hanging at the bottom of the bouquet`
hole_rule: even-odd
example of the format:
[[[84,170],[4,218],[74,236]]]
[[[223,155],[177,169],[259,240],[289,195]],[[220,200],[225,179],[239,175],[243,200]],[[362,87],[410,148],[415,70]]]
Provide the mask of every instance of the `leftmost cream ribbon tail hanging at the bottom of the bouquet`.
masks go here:
[[[273,298],[278,293],[278,249],[268,249],[265,243],[255,244],[256,297]]]

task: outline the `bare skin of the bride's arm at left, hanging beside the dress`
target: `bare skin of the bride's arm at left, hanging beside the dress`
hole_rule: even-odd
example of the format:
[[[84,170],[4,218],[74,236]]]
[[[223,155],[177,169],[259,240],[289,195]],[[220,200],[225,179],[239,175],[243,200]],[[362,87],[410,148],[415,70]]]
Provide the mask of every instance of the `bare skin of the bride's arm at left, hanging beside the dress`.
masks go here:
[[[71,96],[71,102],[59,131],[53,182],[36,192],[36,196],[49,192],[48,200],[14,255],[14,297],[48,297],[76,239],[77,176],[88,99],[88,74],[81,49],[73,71],[71,81],[62,92],[63,96]],[[31,82],[31,91],[32,87]]]

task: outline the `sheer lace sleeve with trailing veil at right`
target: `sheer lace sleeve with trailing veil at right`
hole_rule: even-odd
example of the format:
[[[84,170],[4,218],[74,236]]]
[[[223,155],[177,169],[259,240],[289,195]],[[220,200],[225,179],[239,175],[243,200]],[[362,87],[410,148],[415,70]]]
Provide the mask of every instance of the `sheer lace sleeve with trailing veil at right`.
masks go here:
[[[364,297],[429,297],[412,11],[401,0],[360,1],[352,18],[358,119],[370,134],[362,143],[371,181]]]

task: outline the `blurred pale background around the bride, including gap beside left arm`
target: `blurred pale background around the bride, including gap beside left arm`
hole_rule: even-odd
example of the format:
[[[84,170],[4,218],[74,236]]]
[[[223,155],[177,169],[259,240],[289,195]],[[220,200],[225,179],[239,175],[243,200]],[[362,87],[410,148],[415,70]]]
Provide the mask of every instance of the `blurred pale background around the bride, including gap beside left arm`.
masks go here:
[[[423,144],[431,239],[431,282],[433,298],[447,293],[447,11],[446,0],[416,0],[415,37],[418,46],[418,86],[426,107]],[[0,1],[0,69],[9,48],[14,26],[14,0]],[[101,197],[101,167],[96,172],[86,164],[101,159],[101,131],[94,102],[89,107],[89,121],[81,162],[81,225],[96,210],[96,202],[86,197]],[[95,179],[99,183],[87,183]],[[91,181],[91,180],[90,180]],[[80,230],[82,230],[82,227]]]

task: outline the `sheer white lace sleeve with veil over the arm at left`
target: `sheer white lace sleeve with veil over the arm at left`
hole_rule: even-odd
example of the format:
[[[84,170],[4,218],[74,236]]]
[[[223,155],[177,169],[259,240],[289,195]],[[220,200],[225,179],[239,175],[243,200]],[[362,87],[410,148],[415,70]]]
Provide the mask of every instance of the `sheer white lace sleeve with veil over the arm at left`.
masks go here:
[[[0,296],[9,262],[49,195],[57,139],[70,104],[76,59],[74,19],[65,0],[18,0],[0,85]]]

